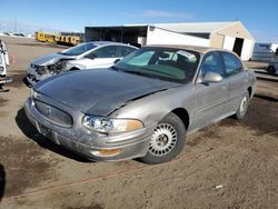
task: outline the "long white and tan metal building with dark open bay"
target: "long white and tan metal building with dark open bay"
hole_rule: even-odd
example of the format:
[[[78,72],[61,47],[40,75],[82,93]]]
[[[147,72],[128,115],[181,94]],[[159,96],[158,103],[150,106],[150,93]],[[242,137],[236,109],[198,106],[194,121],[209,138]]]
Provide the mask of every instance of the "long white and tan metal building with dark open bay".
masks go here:
[[[222,48],[242,60],[252,56],[255,39],[240,21],[86,27],[86,41],[118,41],[135,46],[189,44]]]

